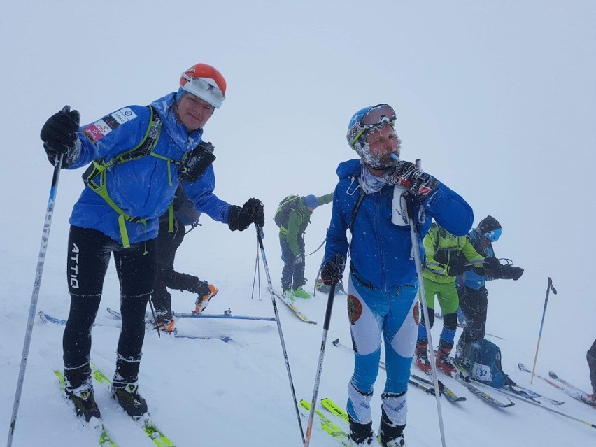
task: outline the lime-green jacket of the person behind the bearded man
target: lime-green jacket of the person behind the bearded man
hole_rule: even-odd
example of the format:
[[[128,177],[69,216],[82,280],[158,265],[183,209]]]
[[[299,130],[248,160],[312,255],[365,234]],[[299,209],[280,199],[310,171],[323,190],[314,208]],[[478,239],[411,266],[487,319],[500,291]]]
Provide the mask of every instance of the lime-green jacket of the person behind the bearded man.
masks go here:
[[[439,284],[455,281],[455,276],[447,274],[447,266],[456,262],[458,256],[463,255],[468,262],[484,260],[484,257],[479,255],[472,246],[469,236],[453,236],[446,229],[439,228],[437,224],[433,224],[425,236],[424,248],[426,262],[423,278]]]

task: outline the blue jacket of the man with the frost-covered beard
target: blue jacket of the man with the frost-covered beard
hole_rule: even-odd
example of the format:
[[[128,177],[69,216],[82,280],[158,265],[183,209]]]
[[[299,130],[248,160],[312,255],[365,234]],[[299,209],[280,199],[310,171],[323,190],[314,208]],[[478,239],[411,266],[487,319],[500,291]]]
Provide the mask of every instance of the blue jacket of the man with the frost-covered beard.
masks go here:
[[[346,232],[350,227],[352,212],[360,192],[356,187],[360,169],[360,160],[348,160],[337,167],[339,183],[333,196],[333,210],[323,262],[327,262],[337,253],[346,259]],[[410,227],[400,227],[391,223],[392,198],[392,185],[386,185],[381,191],[364,197],[354,220],[350,246],[351,264],[358,276],[384,291],[399,285],[416,283],[416,265],[411,256]],[[418,250],[421,259],[424,259],[423,239],[431,225],[431,218],[455,236],[467,234],[474,222],[474,213],[467,202],[442,183],[432,197],[425,201],[424,208],[424,222],[418,219]],[[420,216],[420,204],[416,200],[414,211]]]

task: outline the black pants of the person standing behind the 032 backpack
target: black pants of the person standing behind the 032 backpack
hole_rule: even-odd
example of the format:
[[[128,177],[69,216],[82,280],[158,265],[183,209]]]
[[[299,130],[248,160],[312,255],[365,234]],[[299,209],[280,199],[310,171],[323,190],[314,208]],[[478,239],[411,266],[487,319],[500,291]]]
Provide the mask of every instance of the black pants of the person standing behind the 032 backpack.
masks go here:
[[[488,290],[469,287],[457,290],[460,308],[466,317],[466,327],[460,336],[460,343],[469,344],[484,338],[486,313],[488,309]]]

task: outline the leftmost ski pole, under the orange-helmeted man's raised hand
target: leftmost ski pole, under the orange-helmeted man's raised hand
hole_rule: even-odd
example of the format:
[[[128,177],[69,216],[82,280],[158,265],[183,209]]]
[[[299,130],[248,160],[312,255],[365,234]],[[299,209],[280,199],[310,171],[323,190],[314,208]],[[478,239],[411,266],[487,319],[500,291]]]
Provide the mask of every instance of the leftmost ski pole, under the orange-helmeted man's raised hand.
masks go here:
[[[70,106],[64,106],[62,108],[62,111],[64,113],[69,113],[70,110]],[[15,433],[15,425],[17,423],[17,415],[19,413],[19,404],[21,402],[21,393],[23,390],[24,374],[25,370],[27,369],[27,359],[29,358],[29,347],[31,346],[31,335],[33,334],[33,323],[35,322],[37,301],[39,298],[39,288],[41,287],[41,276],[43,274],[43,265],[45,264],[45,253],[48,251],[48,241],[50,240],[50,228],[52,227],[54,204],[56,201],[56,194],[58,192],[58,180],[60,179],[60,169],[62,169],[62,157],[64,157],[64,154],[59,153],[56,159],[54,160],[54,175],[52,176],[52,187],[50,187],[48,207],[45,210],[45,222],[43,223],[43,232],[41,234],[41,246],[39,247],[39,255],[37,257],[35,281],[33,284],[33,292],[31,293],[31,304],[29,306],[29,319],[27,320],[27,330],[25,331],[19,378],[17,380],[17,390],[15,392],[15,402],[13,404],[13,417],[10,419],[10,428],[8,429],[8,442],[6,443],[6,447],[10,447],[13,445],[13,434]]]

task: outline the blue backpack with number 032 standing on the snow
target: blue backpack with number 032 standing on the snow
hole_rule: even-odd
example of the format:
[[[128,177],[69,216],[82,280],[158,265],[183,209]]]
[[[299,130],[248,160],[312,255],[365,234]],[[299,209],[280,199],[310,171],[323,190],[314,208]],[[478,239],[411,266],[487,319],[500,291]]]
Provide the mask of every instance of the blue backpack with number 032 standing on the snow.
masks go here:
[[[501,367],[501,349],[492,341],[481,339],[472,343],[469,371],[472,379],[494,388],[509,383]]]

